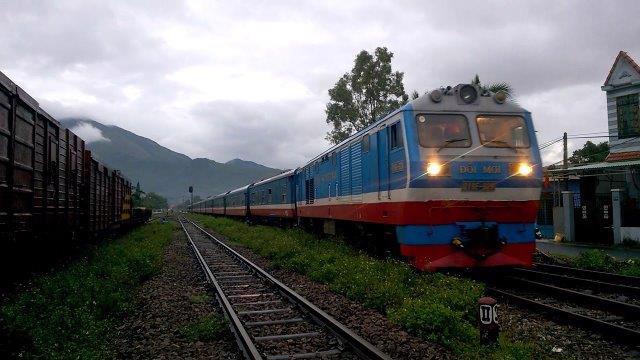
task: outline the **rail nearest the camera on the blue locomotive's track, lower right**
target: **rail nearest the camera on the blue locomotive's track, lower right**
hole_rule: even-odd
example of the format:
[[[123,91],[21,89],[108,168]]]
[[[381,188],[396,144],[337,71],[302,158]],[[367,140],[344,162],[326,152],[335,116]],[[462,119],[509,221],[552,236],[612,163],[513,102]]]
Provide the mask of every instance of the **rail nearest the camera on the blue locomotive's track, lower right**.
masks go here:
[[[615,337],[619,341],[637,344],[638,339],[640,339],[640,331],[629,329],[589,316],[577,314],[552,305],[543,304],[539,301],[531,300],[508,291],[496,288],[487,288],[487,291],[494,295],[508,298],[527,307],[553,314],[557,320],[561,320],[570,324],[577,323],[589,329],[599,330],[603,335]]]

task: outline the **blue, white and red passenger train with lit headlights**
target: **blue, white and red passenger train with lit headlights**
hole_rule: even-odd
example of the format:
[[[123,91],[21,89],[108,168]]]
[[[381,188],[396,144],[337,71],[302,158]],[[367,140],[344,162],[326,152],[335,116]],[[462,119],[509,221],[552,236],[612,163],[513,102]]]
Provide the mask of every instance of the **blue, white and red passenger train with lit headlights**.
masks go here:
[[[391,242],[420,270],[529,267],[541,187],[531,113],[504,92],[459,84],[192,211],[329,234],[358,229],[365,241]]]

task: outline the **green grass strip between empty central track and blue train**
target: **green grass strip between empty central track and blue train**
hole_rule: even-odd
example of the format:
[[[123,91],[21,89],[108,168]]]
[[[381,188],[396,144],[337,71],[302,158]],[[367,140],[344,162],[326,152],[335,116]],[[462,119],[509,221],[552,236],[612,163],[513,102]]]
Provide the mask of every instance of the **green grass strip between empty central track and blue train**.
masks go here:
[[[294,270],[327,284],[332,291],[376,309],[423,339],[470,359],[531,359],[534,344],[503,335],[495,347],[479,344],[476,304],[481,283],[443,274],[418,273],[408,264],[374,259],[340,241],[320,240],[292,229],[248,226],[225,218],[192,218],[270,259],[275,267]]]

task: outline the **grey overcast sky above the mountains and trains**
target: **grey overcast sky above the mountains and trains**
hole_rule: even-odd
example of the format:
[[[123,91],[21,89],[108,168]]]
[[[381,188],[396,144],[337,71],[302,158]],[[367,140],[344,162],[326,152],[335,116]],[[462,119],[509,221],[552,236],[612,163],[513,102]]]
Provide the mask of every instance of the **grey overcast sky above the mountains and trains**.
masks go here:
[[[637,0],[0,6],[0,70],[55,117],[118,125],[190,157],[279,168],[328,146],[327,90],[363,49],[388,47],[407,93],[476,73],[511,83],[541,143],[606,131],[600,86],[618,51],[640,62]],[[547,163],[560,157],[560,144],[543,151]]]

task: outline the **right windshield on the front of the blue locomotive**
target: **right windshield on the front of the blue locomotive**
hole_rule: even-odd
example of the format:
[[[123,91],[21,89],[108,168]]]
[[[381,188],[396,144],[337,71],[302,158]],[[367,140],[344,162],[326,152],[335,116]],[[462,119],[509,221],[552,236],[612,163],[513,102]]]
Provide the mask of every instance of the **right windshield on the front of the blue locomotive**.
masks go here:
[[[528,148],[527,125],[520,116],[481,115],[476,119],[480,141],[487,147]]]

